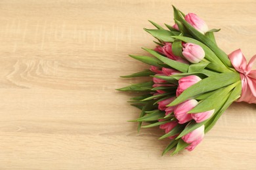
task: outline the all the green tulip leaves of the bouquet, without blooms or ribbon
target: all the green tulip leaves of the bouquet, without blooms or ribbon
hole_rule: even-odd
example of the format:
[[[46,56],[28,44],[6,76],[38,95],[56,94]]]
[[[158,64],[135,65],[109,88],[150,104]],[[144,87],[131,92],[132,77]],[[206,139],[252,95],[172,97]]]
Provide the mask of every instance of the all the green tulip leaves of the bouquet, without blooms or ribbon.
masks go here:
[[[149,69],[133,73],[127,76],[121,76],[123,78],[134,78],[141,76],[149,76],[160,78],[165,80],[162,83],[163,86],[152,87],[154,82],[142,82],[137,84],[131,84],[124,88],[117,90],[123,92],[137,92],[141,95],[132,97],[131,105],[140,109],[139,118],[132,120],[131,122],[138,122],[138,131],[141,127],[156,127],[169,122],[177,121],[173,112],[165,116],[165,111],[158,110],[158,103],[170,97],[174,97],[176,94],[177,86],[179,85],[179,79],[188,75],[197,75],[202,78],[200,82],[190,86],[184,92],[179,95],[173,102],[167,107],[178,105],[188,99],[196,99],[199,101],[198,105],[194,109],[190,110],[190,113],[205,112],[207,110],[214,109],[215,112],[208,120],[200,123],[196,123],[194,120],[186,124],[177,124],[171,131],[162,135],[159,139],[165,139],[167,137],[177,136],[176,139],[171,140],[169,145],[163,150],[163,155],[174,150],[172,155],[177,154],[187,146],[181,137],[190,133],[194,129],[200,126],[205,126],[205,133],[209,131],[219,120],[232,102],[236,101],[241,95],[242,85],[240,80],[240,74],[237,73],[231,65],[228,56],[217,46],[214,33],[220,31],[220,29],[211,29],[207,33],[203,34],[192,25],[188,24],[184,20],[184,14],[173,6],[173,16],[175,24],[178,25],[179,31],[174,29],[171,25],[165,24],[167,29],[163,28],[156,22],[149,21],[156,29],[144,29],[150,35],[155,37],[159,42],[154,41],[159,46],[164,46],[165,42],[172,43],[172,52],[175,56],[184,58],[182,55],[182,42],[190,42],[201,46],[205,52],[205,58],[200,63],[181,63],[173,59],[167,58],[164,54],[156,52],[155,50],[143,48],[152,56],[133,56],[131,58],[137,59],[148,65],[154,65],[159,69],[162,67],[169,69],[176,69],[181,73],[171,76],[156,75],[156,73]],[[173,55],[171,54],[171,55]],[[168,85],[166,85],[168,84]],[[172,84],[169,86],[169,84]],[[161,90],[165,93],[156,93]],[[158,91],[159,92],[159,91]],[[159,121],[161,119],[161,121]],[[142,126],[142,122],[146,122],[146,126]]]

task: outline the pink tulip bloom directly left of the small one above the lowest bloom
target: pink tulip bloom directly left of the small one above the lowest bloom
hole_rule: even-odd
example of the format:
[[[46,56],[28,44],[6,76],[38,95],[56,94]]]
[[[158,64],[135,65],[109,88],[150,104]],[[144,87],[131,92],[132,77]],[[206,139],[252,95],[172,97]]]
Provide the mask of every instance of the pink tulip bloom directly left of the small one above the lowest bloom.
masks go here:
[[[198,101],[195,99],[184,101],[175,107],[174,115],[179,120],[179,124],[184,124],[192,120],[192,115],[188,114],[188,112],[198,105]]]

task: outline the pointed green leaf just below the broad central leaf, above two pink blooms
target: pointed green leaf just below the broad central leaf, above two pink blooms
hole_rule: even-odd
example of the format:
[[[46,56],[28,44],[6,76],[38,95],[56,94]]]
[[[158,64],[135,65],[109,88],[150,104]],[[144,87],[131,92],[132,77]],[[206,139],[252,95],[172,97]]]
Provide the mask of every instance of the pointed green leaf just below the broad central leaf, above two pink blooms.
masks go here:
[[[230,86],[226,86],[224,88],[220,88],[215,91],[211,96],[207,99],[204,99],[200,102],[194,109],[190,110],[188,113],[197,113],[197,112],[205,112],[213,109],[217,109],[223,105],[226,101],[224,100],[224,96],[228,95],[228,93],[235,88],[237,83],[231,84]],[[215,110],[216,111],[216,110]]]

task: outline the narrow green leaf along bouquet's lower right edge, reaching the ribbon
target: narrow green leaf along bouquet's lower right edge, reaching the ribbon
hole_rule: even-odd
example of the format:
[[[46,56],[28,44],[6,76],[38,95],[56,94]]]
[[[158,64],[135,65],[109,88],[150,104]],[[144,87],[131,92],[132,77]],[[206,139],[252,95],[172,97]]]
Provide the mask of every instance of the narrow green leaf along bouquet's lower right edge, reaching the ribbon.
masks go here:
[[[223,114],[223,112],[234,102],[236,101],[242,92],[242,84],[241,81],[238,82],[236,88],[234,88],[234,90],[232,90],[232,92],[230,93],[230,96],[228,97],[228,100],[226,101],[226,103],[224,104],[224,106],[221,108],[221,110],[219,110],[219,112],[217,112],[214,120],[211,122],[211,124],[209,126],[205,127],[205,133],[207,133],[207,131],[209,131],[217,122],[217,120],[219,120],[219,118],[221,117],[221,115]]]

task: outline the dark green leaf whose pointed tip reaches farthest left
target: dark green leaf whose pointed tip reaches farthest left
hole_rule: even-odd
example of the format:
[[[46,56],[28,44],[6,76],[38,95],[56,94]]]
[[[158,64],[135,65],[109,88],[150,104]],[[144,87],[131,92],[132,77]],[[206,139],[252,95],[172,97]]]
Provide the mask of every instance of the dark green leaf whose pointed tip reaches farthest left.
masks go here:
[[[137,83],[137,84],[131,84],[130,86],[126,86],[124,88],[119,88],[116,90],[119,91],[131,91],[131,92],[151,92],[152,90],[152,86],[153,86],[154,82],[150,81],[150,82],[141,82],[141,83]]]

